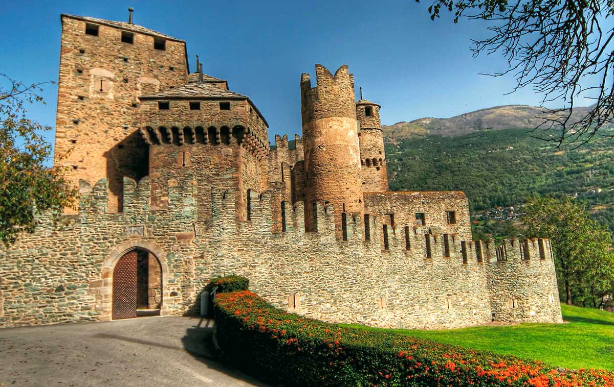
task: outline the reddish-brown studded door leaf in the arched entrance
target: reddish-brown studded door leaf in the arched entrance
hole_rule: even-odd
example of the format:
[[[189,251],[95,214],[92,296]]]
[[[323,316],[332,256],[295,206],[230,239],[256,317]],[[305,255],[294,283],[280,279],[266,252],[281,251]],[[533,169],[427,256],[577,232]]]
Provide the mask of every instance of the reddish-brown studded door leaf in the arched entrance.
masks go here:
[[[119,258],[113,269],[113,320],[136,317],[137,295],[136,250]]]

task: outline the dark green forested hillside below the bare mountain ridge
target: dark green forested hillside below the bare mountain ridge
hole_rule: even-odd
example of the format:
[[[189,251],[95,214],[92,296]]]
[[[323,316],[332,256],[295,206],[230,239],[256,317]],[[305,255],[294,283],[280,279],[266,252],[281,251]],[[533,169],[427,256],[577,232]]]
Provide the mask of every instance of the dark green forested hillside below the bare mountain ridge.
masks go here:
[[[578,144],[557,149],[527,129],[479,130],[456,137],[387,137],[386,157],[391,189],[467,193],[478,235],[512,233],[505,221],[515,219],[531,195],[577,197],[614,230],[613,145],[600,137],[577,149]]]

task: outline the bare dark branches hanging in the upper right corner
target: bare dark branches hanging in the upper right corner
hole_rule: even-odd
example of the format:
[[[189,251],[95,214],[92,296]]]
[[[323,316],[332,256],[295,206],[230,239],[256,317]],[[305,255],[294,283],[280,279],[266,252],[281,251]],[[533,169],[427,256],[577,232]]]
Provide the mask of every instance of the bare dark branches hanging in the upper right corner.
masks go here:
[[[488,27],[492,36],[473,40],[472,48],[474,56],[500,53],[507,59],[508,69],[491,75],[511,73],[517,81],[514,91],[532,86],[542,94],[542,104],[567,104],[544,110],[536,130],[554,137],[543,140],[582,144],[612,124],[614,0],[434,0],[431,19],[440,17],[441,10],[453,12],[454,23],[461,17],[494,22]],[[588,85],[581,85],[583,80]],[[581,97],[593,99],[594,105],[574,119]]]

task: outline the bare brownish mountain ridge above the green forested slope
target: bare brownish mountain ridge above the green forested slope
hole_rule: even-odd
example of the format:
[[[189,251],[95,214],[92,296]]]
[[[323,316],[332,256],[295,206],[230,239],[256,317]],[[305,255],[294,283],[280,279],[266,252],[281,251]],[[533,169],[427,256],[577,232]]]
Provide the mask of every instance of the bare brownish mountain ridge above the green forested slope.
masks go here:
[[[572,121],[583,117],[589,109],[589,107],[575,108]],[[476,110],[451,118],[427,117],[410,122],[397,122],[394,125],[383,126],[383,129],[384,136],[390,141],[427,134],[454,137],[478,130],[533,129],[544,122],[543,117],[554,118],[555,116],[546,115],[543,108],[529,105],[505,105]]]

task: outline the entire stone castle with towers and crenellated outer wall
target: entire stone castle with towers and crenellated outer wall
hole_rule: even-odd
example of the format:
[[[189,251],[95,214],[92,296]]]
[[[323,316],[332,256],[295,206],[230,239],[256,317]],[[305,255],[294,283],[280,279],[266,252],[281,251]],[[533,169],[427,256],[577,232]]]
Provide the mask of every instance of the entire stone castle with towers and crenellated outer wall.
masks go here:
[[[0,249],[0,326],[196,311],[239,274],[325,321],[559,322],[550,241],[472,241],[462,192],[391,192],[380,106],[347,66],[300,79],[303,137],[190,73],[183,40],[61,15],[55,164],[78,211]]]

